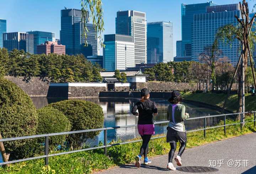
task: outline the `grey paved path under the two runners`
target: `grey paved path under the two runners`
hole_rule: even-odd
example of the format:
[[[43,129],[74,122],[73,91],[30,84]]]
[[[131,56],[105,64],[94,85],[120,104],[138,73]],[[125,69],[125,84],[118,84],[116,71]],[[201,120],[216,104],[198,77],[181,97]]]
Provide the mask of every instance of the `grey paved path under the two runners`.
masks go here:
[[[136,168],[134,164],[114,167],[99,174],[165,174],[165,173],[184,173],[178,170],[171,171],[166,169],[167,155],[152,158],[152,163],[147,166]],[[205,166],[209,167],[209,160],[216,161],[217,172],[213,174],[256,174],[256,133],[230,138],[216,143],[211,143],[192,149],[187,149],[182,155],[183,166]],[[219,167],[218,160],[224,160],[224,164]],[[228,161],[233,160],[234,166],[228,167]],[[241,162],[237,161],[241,160]],[[249,160],[249,166],[235,167],[242,164],[242,160]],[[174,161],[175,162],[175,161]],[[176,163],[175,163],[176,167]]]

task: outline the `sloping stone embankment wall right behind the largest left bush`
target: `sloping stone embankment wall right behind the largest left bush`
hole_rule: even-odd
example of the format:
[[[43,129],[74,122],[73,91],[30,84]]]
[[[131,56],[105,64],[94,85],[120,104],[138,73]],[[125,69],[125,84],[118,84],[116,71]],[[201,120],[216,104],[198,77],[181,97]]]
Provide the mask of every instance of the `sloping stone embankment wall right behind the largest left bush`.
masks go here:
[[[31,97],[45,97],[47,95],[48,81],[42,81],[39,77],[31,77],[29,82],[26,82],[24,77],[5,76],[5,79],[14,82]]]

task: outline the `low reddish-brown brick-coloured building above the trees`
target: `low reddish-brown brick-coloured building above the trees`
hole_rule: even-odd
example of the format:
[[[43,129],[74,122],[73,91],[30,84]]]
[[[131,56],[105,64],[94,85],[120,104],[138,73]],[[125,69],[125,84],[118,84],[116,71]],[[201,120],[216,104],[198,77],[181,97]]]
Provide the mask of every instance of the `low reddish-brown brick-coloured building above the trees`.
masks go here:
[[[58,42],[46,41],[41,45],[37,45],[37,54],[65,54],[65,45],[58,45]]]

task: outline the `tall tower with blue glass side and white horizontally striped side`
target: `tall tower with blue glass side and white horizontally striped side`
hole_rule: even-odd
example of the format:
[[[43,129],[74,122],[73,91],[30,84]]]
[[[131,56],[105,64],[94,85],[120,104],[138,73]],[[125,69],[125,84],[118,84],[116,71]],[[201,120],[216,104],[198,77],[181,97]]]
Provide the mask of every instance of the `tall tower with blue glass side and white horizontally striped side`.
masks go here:
[[[146,27],[146,13],[133,10],[117,12],[116,34],[133,37],[135,64],[147,63]]]

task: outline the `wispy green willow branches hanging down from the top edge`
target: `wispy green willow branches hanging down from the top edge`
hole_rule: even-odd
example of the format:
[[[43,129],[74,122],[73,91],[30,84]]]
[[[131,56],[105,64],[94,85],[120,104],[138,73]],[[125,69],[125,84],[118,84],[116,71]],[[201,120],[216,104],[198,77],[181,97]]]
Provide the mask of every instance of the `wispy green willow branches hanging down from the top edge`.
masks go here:
[[[102,33],[104,29],[103,21],[103,9],[101,0],[81,0],[81,11],[82,11],[82,24],[83,24],[83,35],[85,37],[85,46],[88,46],[87,33],[89,30],[86,27],[86,22],[92,22],[93,27],[97,33],[95,39],[100,40],[101,47],[105,47],[103,44]]]

